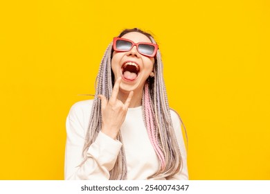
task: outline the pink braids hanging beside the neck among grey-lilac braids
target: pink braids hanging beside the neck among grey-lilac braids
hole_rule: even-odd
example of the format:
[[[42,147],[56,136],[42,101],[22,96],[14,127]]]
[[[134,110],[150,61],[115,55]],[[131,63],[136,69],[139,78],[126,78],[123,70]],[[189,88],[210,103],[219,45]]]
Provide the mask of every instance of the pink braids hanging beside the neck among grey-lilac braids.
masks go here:
[[[154,122],[152,110],[150,107],[150,95],[147,83],[145,83],[145,117],[146,117],[145,120],[147,125],[147,132],[150,137],[150,141],[154,147],[154,150],[156,151],[156,154],[158,155],[159,160],[161,161],[161,170],[162,170],[163,168],[165,168],[165,158],[163,152],[161,151],[161,148],[159,147],[156,136],[154,135]]]

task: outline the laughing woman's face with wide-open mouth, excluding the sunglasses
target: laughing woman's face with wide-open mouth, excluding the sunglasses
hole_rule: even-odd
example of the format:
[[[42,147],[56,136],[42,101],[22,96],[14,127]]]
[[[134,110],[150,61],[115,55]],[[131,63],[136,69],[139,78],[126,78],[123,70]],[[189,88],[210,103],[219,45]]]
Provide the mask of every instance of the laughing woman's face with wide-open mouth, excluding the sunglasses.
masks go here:
[[[123,35],[123,38],[133,42],[150,42],[151,40],[142,33],[132,32]],[[143,91],[145,81],[150,76],[154,67],[154,58],[148,58],[138,53],[136,46],[127,52],[114,51],[111,58],[111,69],[114,72],[114,80],[122,78],[120,91]]]

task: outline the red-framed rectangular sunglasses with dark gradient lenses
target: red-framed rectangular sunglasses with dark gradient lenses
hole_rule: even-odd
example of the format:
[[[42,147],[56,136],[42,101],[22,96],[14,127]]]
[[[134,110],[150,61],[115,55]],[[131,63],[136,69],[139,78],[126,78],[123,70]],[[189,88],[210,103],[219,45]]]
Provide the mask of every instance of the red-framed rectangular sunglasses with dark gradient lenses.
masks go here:
[[[154,43],[149,42],[137,42],[134,43],[130,39],[125,39],[122,37],[114,37],[114,51],[127,52],[132,50],[133,46],[136,46],[138,53],[145,55],[147,57],[153,58],[156,55],[156,51],[159,46]]]

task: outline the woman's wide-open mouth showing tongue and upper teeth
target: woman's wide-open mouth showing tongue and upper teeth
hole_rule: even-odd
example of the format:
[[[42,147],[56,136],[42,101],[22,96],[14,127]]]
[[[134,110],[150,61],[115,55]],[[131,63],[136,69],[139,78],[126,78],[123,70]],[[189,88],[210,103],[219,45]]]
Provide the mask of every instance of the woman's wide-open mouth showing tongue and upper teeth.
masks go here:
[[[126,80],[135,80],[140,72],[140,67],[135,62],[125,62],[121,69]]]

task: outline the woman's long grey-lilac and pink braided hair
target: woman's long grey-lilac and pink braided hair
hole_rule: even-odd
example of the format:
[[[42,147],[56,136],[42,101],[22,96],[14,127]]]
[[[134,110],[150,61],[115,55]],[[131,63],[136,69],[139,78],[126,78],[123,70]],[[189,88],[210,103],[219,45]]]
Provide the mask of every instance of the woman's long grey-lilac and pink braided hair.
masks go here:
[[[123,30],[118,37],[131,32],[142,33],[149,37],[152,43],[156,43],[152,35],[138,28]],[[102,94],[107,99],[111,97],[114,85],[114,73],[111,70],[111,55],[112,43],[109,44],[105,51],[96,78],[96,94],[93,100],[89,127],[83,148],[84,161],[87,159],[86,153],[89,146],[96,140],[101,130],[101,100],[98,99],[98,95]],[[160,168],[154,175],[148,178],[170,178],[180,170],[182,159],[172,126],[170,107],[163,80],[163,63],[159,50],[156,53],[154,75],[154,78],[148,78],[145,82],[142,105],[145,127],[156,155],[159,157]],[[117,139],[123,142],[120,132]],[[114,168],[110,170],[109,179],[127,179],[127,162],[123,146],[120,149]]]

